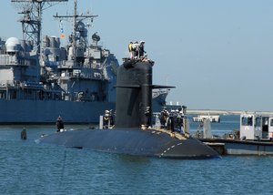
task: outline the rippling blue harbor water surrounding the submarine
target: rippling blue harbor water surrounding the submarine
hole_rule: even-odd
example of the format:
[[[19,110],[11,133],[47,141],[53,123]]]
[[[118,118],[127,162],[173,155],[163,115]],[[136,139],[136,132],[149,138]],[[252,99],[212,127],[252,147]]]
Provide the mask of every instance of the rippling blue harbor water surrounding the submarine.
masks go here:
[[[213,126],[224,132],[228,124],[238,121]],[[132,157],[36,144],[53,126],[25,127],[24,141],[22,128],[0,127],[0,194],[273,194],[273,157]]]

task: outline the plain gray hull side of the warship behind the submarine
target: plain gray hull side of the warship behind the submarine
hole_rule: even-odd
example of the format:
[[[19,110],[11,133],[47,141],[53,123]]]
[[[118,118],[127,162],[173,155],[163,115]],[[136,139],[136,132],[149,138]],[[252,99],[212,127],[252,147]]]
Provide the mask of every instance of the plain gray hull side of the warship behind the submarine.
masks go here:
[[[65,123],[86,124],[98,123],[115,103],[0,99],[0,108],[0,124],[53,124],[58,116]]]

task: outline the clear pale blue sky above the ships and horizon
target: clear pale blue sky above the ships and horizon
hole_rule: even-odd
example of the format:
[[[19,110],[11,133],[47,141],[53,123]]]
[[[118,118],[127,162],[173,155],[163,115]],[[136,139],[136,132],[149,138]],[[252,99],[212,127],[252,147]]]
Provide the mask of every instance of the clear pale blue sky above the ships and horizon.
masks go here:
[[[130,41],[146,41],[153,82],[175,86],[167,96],[190,109],[273,111],[273,1],[78,0],[79,13],[119,63]],[[60,36],[52,15],[72,14],[74,1],[43,13],[43,35]],[[18,5],[0,2],[0,37],[22,38]],[[65,34],[71,26],[65,23]],[[273,87],[272,87],[273,88]]]

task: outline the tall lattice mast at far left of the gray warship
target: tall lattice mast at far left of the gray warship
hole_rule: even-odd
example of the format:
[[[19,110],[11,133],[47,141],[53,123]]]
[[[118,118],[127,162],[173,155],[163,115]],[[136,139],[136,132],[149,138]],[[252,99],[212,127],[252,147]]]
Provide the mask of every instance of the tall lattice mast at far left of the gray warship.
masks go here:
[[[53,3],[67,2],[68,0],[11,0],[12,3],[21,5],[22,10],[18,14],[23,14],[19,20],[22,23],[23,39],[34,43],[36,53],[41,52],[42,36],[42,12]],[[45,7],[45,4],[47,6]]]

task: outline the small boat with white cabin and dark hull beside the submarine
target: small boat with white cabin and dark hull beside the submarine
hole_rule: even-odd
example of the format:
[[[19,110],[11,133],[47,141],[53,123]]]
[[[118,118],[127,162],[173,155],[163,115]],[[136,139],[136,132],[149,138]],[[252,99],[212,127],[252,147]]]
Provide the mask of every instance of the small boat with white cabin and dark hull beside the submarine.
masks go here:
[[[239,131],[223,138],[213,138],[210,121],[205,123],[204,137],[198,139],[220,155],[273,155],[273,116],[243,113]]]

